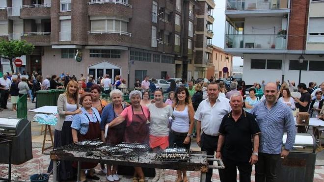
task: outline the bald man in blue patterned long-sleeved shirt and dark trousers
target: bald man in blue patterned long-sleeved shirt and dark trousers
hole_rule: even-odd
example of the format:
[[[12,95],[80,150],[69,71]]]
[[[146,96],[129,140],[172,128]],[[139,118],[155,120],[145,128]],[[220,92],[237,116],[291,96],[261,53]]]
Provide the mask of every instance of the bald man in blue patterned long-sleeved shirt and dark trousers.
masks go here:
[[[266,99],[254,105],[251,114],[261,130],[258,162],[255,164],[256,182],[275,182],[277,161],[289,155],[295,143],[295,121],[289,107],[277,100],[277,84],[269,82],[265,86]],[[285,148],[282,137],[287,132]]]

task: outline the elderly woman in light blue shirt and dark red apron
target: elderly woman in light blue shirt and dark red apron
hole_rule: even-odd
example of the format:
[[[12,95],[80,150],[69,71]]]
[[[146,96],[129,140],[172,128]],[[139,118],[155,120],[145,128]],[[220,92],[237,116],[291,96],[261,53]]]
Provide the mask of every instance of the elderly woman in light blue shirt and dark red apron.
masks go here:
[[[100,122],[101,118],[96,108],[92,107],[91,94],[84,92],[80,98],[82,104],[80,114],[76,114],[73,118],[71,128],[73,142],[77,143],[82,140],[94,140],[100,138]],[[74,167],[77,167],[74,163]],[[81,170],[81,182],[86,182],[86,178],[92,180],[100,180],[99,177],[94,176],[94,168],[98,163],[82,162],[81,169],[87,169],[88,174],[85,176],[85,170]],[[90,169],[90,170],[89,170]]]

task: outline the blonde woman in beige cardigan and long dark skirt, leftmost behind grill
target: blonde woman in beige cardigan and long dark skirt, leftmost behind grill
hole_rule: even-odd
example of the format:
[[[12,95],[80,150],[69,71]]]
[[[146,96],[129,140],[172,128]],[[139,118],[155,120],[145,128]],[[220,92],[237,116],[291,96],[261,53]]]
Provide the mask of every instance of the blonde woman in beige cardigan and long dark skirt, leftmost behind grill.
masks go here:
[[[81,114],[79,109],[79,84],[71,80],[66,91],[57,99],[58,119],[54,131],[54,148],[73,143],[71,124],[75,114]],[[51,160],[48,172],[53,169]],[[66,181],[75,177],[72,161],[61,161],[57,167],[57,181]]]

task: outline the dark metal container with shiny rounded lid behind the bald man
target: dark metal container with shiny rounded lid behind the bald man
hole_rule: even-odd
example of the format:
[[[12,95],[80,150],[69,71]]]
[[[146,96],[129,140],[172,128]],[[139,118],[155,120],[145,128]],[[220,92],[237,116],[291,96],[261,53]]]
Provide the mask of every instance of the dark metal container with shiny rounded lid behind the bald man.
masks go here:
[[[283,144],[287,135],[283,136]],[[316,142],[313,134],[296,133],[294,149],[280,159],[277,182],[313,182],[316,162]]]

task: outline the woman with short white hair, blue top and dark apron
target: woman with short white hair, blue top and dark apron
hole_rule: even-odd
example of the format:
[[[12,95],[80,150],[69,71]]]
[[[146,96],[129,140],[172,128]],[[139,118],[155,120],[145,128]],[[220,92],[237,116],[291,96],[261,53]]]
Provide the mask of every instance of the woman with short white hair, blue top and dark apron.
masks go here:
[[[126,107],[125,104],[122,104],[122,96],[123,93],[118,90],[112,90],[110,92],[110,98],[112,103],[108,104],[102,111],[101,114],[101,139],[103,142],[107,143],[110,146],[114,146],[120,144],[124,141],[124,134],[126,128],[126,121],[122,122],[121,124],[110,128],[107,138],[105,138],[105,126],[106,124],[110,123],[113,119],[117,118],[124,108]],[[118,181],[119,177],[117,175],[117,165],[107,164],[107,175],[106,178],[109,182]]]

